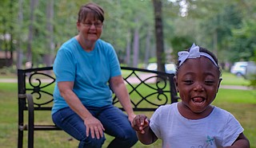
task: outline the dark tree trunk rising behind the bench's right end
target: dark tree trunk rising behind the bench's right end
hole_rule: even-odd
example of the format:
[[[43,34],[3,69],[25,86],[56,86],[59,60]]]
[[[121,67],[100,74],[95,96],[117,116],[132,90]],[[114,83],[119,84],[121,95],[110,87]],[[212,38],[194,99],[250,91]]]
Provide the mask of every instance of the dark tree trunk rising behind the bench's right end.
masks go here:
[[[155,22],[155,38],[156,38],[156,54],[158,60],[158,71],[165,72],[165,54],[162,32],[162,2],[161,0],[153,0],[154,2],[154,22]]]

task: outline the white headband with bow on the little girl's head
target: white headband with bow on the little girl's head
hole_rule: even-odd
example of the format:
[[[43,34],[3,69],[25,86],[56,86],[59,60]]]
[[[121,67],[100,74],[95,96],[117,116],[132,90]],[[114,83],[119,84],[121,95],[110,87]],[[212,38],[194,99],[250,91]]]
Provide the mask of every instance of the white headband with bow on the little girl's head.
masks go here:
[[[210,56],[208,53],[199,52],[199,46],[195,45],[194,43],[190,48],[190,52],[186,52],[186,51],[178,52],[178,60],[180,61],[179,66],[181,66],[186,59],[191,59],[191,58],[194,59],[200,56],[206,56],[215,64],[216,67],[218,67],[218,64],[216,64],[213,57]]]

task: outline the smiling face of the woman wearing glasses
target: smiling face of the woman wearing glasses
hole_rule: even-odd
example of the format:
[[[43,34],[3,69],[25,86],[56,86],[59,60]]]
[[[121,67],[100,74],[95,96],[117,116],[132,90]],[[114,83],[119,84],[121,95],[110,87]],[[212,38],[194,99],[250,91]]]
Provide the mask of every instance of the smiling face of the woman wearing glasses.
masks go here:
[[[102,34],[102,21],[95,18],[94,14],[87,14],[86,19],[77,22],[78,35],[84,41],[95,42]]]

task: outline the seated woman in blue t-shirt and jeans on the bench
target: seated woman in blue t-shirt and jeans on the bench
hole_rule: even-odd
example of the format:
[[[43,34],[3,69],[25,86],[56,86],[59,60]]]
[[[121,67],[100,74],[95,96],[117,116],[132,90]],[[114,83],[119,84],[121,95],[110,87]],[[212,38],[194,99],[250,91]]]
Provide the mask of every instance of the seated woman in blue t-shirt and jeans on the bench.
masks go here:
[[[103,21],[100,6],[80,8],[78,35],[60,47],[54,60],[52,118],[80,141],[78,147],[102,147],[104,133],[115,137],[108,147],[131,147],[138,141],[130,124],[135,115],[114,48],[100,39]],[[110,87],[127,115],[112,105]]]

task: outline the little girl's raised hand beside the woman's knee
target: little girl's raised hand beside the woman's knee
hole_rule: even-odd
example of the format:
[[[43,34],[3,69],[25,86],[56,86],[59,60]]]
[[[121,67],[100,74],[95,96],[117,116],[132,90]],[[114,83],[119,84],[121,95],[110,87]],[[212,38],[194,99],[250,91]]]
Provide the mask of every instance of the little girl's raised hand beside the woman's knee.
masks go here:
[[[138,131],[141,134],[145,134],[144,128],[150,125],[149,119],[146,115],[136,115],[132,123],[134,130]]]

